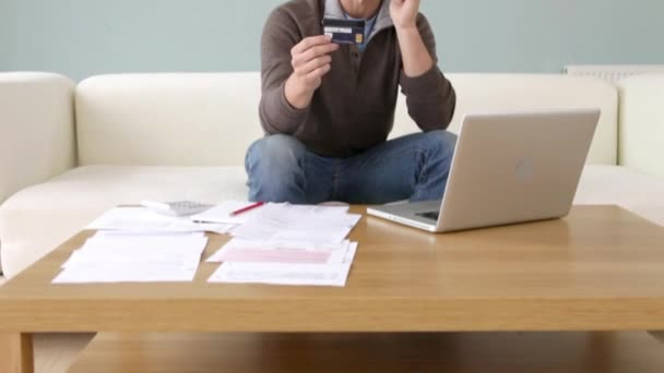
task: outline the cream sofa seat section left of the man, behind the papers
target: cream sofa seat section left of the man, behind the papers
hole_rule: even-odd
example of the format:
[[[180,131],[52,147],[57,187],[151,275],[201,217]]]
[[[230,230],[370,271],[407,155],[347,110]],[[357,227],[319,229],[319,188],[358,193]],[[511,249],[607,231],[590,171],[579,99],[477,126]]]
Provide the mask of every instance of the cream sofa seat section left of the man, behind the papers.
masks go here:
[[[142,200],[246,200],[241,167],[82,167],[21,191],[0,207],[0,260],[9,277],[108,208]]]

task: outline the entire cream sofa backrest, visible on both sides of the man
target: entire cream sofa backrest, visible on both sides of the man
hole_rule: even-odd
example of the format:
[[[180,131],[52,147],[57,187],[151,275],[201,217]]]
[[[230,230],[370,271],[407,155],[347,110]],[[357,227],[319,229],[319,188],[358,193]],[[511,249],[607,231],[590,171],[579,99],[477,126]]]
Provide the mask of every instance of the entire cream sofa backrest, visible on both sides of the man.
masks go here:
[[[589,163],[616,165],[615,86],[557,74],[448,77],[458,97],[452,132],[467,113],[600,108]],[[249,144],[263,135],[260,95],[257,72],[91,77],[76,87],[80,165],[241,166]],[[401,95],[391,137],[417,131]]]

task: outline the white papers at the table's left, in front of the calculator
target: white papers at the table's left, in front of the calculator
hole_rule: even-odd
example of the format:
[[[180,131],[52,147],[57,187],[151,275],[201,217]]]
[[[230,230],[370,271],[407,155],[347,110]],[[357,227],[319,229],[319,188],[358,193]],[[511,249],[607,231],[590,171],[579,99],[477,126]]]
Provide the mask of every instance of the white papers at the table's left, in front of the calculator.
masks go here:
[[[54,284],[191,281],[206,244],[203,233],[98,232]]]

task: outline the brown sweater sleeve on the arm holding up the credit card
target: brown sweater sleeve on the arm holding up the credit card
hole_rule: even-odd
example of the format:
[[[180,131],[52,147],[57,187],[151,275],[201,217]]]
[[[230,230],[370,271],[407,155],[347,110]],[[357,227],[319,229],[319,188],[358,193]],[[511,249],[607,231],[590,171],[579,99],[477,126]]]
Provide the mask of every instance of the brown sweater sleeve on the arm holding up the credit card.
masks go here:
[[[290,49],[303,39],[289,14],[276,9],[265,23],[261,39],[259,115],[268,134],[294,134],[305,122],[308,108],[296,109],[286,99],[286,81],[293,74]]]

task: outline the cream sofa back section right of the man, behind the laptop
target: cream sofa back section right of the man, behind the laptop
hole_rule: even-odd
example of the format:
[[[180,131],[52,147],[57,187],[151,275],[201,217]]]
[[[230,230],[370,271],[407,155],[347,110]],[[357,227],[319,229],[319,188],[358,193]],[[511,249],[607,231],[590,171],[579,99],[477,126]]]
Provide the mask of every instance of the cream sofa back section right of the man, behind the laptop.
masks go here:
[[[448,74],[456,89],[456,111],[450,131],[459,133],[466,115],[598,108],[602,111],[588,163],[616,165],[618,92],[592,77],[558,74]],[[416,131],[402,95],[392,137]]]

